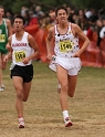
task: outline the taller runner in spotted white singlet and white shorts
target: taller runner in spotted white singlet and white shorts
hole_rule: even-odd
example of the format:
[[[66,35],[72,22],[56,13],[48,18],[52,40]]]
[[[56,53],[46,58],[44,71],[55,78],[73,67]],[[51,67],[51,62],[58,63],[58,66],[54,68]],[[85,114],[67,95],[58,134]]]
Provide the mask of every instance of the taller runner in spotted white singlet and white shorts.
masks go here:
[[[69,116],[67,95],[74,96],[77,82],[77,73],[81,70],[80,55],[90,44],[90,40],[77,24],[67,21],[67,9],[63,6],[55,10],[57,24],[49,29],[46,48],[48,59],[52,60],[50,68],[56,72],[60,91],[60,104],[63,113],[65,127],[72,126]],[[78,38],[84,43],[80,49]],[[54,55],[52,55],[52,43],[55,43]]]

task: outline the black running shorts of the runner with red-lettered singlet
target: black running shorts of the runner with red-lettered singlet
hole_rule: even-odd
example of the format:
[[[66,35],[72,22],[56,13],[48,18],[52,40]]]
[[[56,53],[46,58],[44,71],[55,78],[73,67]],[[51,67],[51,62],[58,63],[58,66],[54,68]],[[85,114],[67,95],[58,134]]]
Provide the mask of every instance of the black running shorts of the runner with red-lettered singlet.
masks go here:
[[[33,65],[27,65],[27,66],[19,66],[15,65],[12,70],[11,70],[11,78],[12,76],[20,76],[23,78],[24,83],[29,83],[32,81],[33,78]]]

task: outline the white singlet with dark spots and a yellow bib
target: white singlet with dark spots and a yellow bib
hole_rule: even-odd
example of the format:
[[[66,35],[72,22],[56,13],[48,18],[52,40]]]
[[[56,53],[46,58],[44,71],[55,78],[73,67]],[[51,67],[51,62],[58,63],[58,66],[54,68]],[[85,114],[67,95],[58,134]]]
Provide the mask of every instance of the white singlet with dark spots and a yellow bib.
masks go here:
[[[55,25],[55,55],[72,57],[75,52],[80,50],[78,38],[75,38],[71,23],[69,24],[67,32],[65,34],[60,34],[57,31],[57,24]]]

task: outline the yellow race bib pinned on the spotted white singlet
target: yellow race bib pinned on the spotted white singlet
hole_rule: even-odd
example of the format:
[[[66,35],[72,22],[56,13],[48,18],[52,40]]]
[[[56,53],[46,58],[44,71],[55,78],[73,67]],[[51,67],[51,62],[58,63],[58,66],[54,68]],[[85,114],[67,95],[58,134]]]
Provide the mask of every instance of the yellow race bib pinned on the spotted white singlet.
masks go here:
[[[60,51],[61,52],[70,52],[73,51],[73,45],[71,41],[61,41],[60,42]]]

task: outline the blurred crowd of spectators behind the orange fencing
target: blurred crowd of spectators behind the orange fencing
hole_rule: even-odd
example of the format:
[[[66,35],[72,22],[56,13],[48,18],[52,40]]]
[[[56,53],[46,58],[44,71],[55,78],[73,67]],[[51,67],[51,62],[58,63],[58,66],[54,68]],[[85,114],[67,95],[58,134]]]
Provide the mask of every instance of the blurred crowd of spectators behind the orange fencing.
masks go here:
[[[88,38],[92,35],[93,31],[97,32],[97,45],[99,45],[101,40],[105,36],[105,9],[83,10],[67,7],[67,11],[69,21],[78,24]],[[20,14],[25,19],[25,27],[40,24],[41,28],[49,29],[51,25],[56,23],[54,10],[44,12],[40,6],[35,4],[30,8],[22,7]],[[10,19],[11,23],[14,15],[15,14],[12,14],[10,11],[6,11],[6,18]]]

